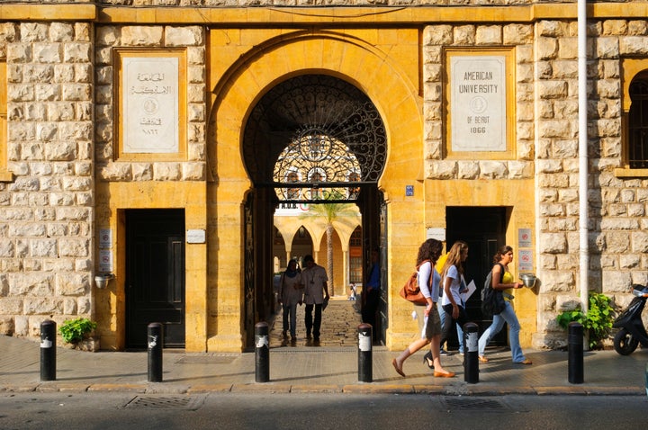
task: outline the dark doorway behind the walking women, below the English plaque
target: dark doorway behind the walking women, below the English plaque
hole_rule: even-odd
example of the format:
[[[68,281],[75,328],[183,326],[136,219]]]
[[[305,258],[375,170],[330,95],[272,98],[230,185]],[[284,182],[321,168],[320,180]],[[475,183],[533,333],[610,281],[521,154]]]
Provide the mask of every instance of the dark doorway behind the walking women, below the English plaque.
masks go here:
[[[468,319],[480,327],[480,334],[489,327],[492,318],[482,314],[482,288],[486,275],[492,267],[492,257],[499,246],[505,245],[506,229],[510,209],[506,207],[447,207],[446,246],[449,250],[457,240],[464,240],[469,246],[465,262],[466,282],[474,281],[477,290],[466,302]],[[453,327],[455,332],[455,327]],[[490,345],[507,345],[508,327],[491,340]],[[456,334],[450,336],[451,346],[458,346]]]

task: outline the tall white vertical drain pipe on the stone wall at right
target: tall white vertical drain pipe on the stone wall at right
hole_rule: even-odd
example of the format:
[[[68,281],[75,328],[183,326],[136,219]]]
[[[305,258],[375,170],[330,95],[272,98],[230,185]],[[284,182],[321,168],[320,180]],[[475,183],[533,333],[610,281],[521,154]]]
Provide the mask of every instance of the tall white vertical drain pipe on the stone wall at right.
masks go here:
[[[588,273],[590,246],[588,241],[588,106],[587,106],[587,4],[578,0],[578,71],[579,71],[579,237],[581,260],[581,309],[587,313],[590,305]],[[588,343],[585,343],[588,345]]]

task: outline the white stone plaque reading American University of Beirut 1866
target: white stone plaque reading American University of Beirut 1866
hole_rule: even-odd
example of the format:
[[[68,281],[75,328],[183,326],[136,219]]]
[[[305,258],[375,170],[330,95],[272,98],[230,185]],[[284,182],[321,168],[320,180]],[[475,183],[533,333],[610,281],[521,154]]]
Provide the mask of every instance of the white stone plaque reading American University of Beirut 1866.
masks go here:
[[[450,74],[452,150],[506,151],[506,57],[455,56]]]

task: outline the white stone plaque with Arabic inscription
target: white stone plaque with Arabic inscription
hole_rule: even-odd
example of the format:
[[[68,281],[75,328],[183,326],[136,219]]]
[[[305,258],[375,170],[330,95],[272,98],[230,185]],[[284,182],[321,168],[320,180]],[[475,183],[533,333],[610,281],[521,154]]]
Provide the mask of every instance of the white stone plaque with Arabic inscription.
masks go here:
[[[122,58],[124,153],[177,153],[177,57]]]

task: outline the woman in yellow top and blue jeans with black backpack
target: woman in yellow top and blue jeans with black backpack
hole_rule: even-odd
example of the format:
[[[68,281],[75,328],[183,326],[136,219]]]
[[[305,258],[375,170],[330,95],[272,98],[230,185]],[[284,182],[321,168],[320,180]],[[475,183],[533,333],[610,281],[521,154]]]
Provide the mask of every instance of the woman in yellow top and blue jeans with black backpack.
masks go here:
[[[512,261],[513,247],[509,245],[501,246],[493,256],[494,265],[491,269],[491,286],[493,290],[502,291],[502,294],[504,295],[505,308],[499,314],[493,315],[491,326],[484,330],[479,339],[478,357],[479,361],[482,363],[487,363],[489,361],[488,358],[486,358],[486,355],[484,355],[486,346],[489,345],[491,339],[495,335],[500,333],[500,330],[504,327],[504,323],[506,322],[509,325],[509,346],[511,348],[513,363],[532,364],[531,360],[525,357],[522,348],[519,345],[520,326],[518,316],[516,316],[515,310],[513,310],[513,305],[511,304],[511,300],[513,300],[511,290],[522,287],[522,283],[513,282],[513,275],[509,272],[509,264]]]

